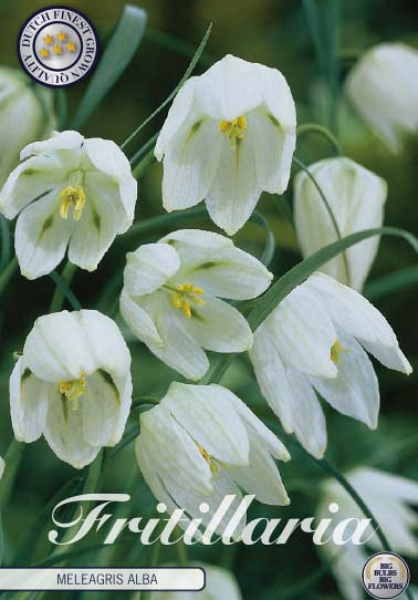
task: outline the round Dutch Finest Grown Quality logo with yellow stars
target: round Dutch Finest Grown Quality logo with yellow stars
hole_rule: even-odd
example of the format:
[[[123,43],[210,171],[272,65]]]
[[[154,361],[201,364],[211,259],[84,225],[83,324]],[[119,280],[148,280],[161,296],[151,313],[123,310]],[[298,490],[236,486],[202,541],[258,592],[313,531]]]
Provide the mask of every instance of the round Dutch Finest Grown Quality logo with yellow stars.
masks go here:
[[[25,21],[18,37],[21,66],[38,83],[65,87],[87,76],[96,63],[94,25],[69,7],[45,7]]]

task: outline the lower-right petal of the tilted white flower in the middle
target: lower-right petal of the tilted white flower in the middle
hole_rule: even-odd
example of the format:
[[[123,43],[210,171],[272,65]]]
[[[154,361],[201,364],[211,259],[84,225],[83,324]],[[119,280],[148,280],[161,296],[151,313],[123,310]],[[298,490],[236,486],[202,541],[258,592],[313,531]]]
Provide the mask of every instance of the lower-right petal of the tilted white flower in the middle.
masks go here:
[[[191,318],[185,328],[206,350],[243,352],[251,348],[252,332],[242,314],[233,307],[203,296],[203,306],[191,304]]]

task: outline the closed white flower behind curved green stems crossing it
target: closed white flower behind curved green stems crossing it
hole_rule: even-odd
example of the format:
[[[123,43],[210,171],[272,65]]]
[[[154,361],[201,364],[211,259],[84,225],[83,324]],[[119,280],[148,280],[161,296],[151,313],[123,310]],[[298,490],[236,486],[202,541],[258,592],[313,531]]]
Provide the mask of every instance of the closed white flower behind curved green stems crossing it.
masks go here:
[[[382,227],[387,196],[387,184],[382,177],[343,157],[320,161],[310,166],[310,172],[321,186],[343,237]],[[318,190],[304,172],[295,178],[294,203],[296,232],[304,258],[338,239]],[[379,237],[375,236],[345,251],[349,278],[342,255],[321,270],[362,290],[378,245]]]

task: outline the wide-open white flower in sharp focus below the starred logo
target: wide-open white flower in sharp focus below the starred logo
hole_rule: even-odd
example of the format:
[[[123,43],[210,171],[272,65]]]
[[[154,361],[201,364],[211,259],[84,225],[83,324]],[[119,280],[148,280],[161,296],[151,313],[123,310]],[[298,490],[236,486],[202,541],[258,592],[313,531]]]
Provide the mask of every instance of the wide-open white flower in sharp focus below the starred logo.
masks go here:
[[[35,279],[63,259],[93,271],[134,219],[136,182],[109,139],[73,131],[22,149],[23,161],[0,193],[0,213],[19,213],[14,247],[21,272]]]

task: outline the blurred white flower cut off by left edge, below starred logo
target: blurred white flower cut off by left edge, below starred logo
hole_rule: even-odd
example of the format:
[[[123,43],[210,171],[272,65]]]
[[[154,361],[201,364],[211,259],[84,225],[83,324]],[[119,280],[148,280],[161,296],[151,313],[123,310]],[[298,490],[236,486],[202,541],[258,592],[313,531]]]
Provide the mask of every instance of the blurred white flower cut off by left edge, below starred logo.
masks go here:
[[[0,66],[0,186],[23,146],[49,135],[54,122],[52,91],[34,86],[20,69]]]

